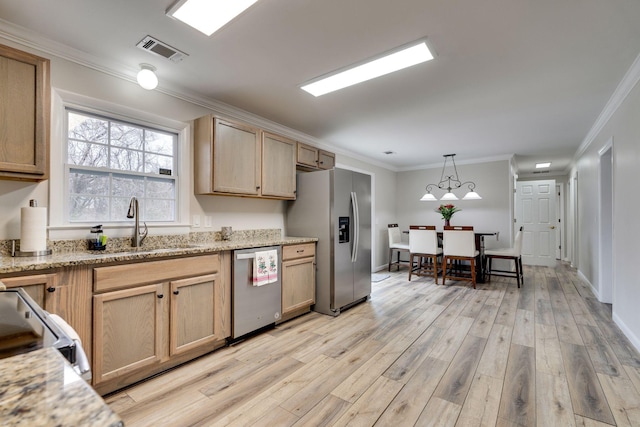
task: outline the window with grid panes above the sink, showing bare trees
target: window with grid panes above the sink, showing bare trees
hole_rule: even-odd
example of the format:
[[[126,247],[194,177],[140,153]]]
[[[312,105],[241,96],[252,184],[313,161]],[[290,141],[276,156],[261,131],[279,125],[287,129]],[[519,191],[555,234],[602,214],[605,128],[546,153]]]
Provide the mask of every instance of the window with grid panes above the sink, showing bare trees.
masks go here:
[[[131,197],[140,220],[176,221],[178,135],[67,109],[69,222],[128,221]]]

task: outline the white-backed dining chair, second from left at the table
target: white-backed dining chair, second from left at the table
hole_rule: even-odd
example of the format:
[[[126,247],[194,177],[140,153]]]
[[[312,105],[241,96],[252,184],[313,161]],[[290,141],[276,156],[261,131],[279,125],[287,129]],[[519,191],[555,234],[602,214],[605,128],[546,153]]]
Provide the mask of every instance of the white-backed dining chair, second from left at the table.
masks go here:
[[[409,281],[411,275],[431,276],[438,284],[438,258],[442,248],[438,247],[438,233],[434,225],[409,226]],[[417,264],[414,266],[414,258]]]

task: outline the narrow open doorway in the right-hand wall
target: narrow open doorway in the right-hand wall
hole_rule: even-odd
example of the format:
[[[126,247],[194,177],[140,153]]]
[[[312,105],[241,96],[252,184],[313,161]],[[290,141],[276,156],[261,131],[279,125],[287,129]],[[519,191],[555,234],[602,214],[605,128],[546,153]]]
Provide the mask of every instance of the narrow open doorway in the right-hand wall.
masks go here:
[[[599,151],[599,219],[600,275],[598,278],[598,299],[613,303],[613,138]]]

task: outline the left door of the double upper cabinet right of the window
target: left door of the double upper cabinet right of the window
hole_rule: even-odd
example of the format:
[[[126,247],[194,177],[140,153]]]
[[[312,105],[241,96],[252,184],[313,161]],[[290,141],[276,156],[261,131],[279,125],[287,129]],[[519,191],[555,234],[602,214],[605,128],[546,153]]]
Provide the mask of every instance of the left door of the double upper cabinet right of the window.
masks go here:
[[[260,194],[260,131],[215,119],[213,191]]]

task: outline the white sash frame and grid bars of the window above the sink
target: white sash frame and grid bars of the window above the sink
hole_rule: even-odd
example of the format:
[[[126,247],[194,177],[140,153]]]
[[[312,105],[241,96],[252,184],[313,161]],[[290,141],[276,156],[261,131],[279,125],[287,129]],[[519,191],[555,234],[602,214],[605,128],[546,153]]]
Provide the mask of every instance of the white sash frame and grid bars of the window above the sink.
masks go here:
[[[99,142],[95,142],[95,141],[86,141],[87,143],[91,143],[91,144],[96,144],[96,145],[102,145],[104,147],[106,147],[107,150],[107,166],[101,167],[101,166],[86,166],[86,165],[76,165],[76,164],[72,164],[69,162],[69,114],[70,113],[75,113],[78,115],[84,115],[84,116],[88,116],[88,117],[92,117],[92,118],[96,118],[99,120],[105,120],[107,122],[109,122],[109,131],[108,131],[108,140],[102,144]],[[117,124],[121,124],[121,125],[125,125],[125,126],[132,126],[132,127],[139,127],[141,129],[143,129],[143,131],[149,130],[149,131],[157,131],[157,132],[162,132],[162,133],[167,133],[167,134],[171,134],[174,136],[173,138],[173,147],[172,147],[172,151],[173,151],[173,155],[171,156],[172,158],[172,167],[171,167],[171,175],[161,175],[159,173],[151,173],[151,172],[138,172],[138,171],[132,171],[132,170],[123,170],[123,169],[113,169],[112,167],[110,167],[109,163],[111,160],[111,151],[113,148],[119,148],[117,145],[112,145],[111,143],[111,125],[112,123],[117,123]],[[65,106],[64,108],[64,128],[65,128],[65,144],[63,147],[63,153],[64,153],[64,222],[66,224],[77,224],[77,225],[88,225],[88,224],[95,224],[96,222],[106,222],[108,224],[123,224],[123,223],[128,223],[129,221],[126,219],[121,219],[121,220],[114,220],[114,219],[109,219],[108,221],[105,220],[101,220],[101,219],[93,219],[93,220],[72,220],[70,218],[70,212],[69,212],[69,204],[70,204],[70,199],[71,199],[71,194],[70,194],[70,183],[69,183],[69,179],[70,179],[70,175],[71,173],[73,173],[73,171],[79,171],[79,172],[95,172],[96,175],[104,175],[108,177],[109,180],[109,188],[112,190],[112,181],[113,178],[115,176],[125,176],[125,177],[132,177],[132,178],[142,178],[143,180],[146,181],[146,178],[149,178],[151,180],[153,179],[164,179],[164,180],[170,180],[173,181],[173,188],[174,188],[174,198],[173,198],[173,203],[174,203],[174,211],[173,211],[173,220],[151,220],[148,218],[145,218],[144,215],[141,216],[141,220],[148,222],[150,224],[173,224],[173,223],[177,223],[178,222],[178,195],[179,195],[179,178],[180,178],[180,174],[179,174],[179,170],[178,170],[178,164],[179,164],[179,153],[178,153],[178,141],[179,141],[179,133],[175,130],[172,129],[166,129],[166,128],[161,128],[161,126],[157,126],[157,125],[153,125],[153,124],[148,124],[148,123],[141,123],[139,120],[135,120],[133,118],[120,118],[120,117],[115,117],[115,115],[113,114],[109,114],[109,113],[103,113],[103,112],[94,112],[94,111],[90,111],[90,109],[87,108],[82,108],[82,107],[71,107],[71,106]],[[131,149],[132,151],[136,151],[136,152],[140,152],[142,153],[142,158],[144,159],[146,154],[153,154],[152,152],[148,152],[146,150],[139,150],[139,149]],[[142,165],[143,169],[145,169],[145,164],[143,161],[143,165]],[[111,203],[113,202],[114,198],[117,198],[113,195],[113,193],[110,193],[107,197],[109,200],[109,205],[111,205]],[[139,197],[139,199],[142,199],[141,197]],[[146,197],[144,197],[144,199],[146,199]],[[165,199],[158,199],[158,200],[165,200]],[[168,200],[168,199],[166,199]],[[143,211],[143,209],[141,209],[141,211]]]

